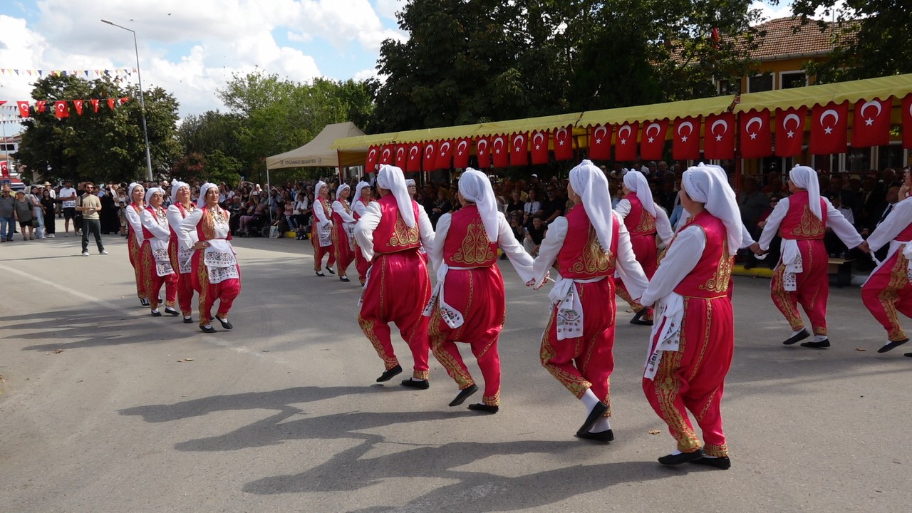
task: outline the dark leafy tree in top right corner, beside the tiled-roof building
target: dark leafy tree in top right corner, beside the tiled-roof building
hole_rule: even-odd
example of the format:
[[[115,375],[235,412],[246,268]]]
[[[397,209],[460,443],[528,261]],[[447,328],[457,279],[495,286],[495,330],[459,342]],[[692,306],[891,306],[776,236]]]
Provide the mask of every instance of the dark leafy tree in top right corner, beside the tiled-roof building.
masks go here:
[[[795,0],[793,13],[821,32],[830,27],[810,16],[822,10],[835,17],[834,48],[822,63],[809,63],[819,83],[872,79],[912,73],[912,47],[907,44],[912,9],[896,0]]]

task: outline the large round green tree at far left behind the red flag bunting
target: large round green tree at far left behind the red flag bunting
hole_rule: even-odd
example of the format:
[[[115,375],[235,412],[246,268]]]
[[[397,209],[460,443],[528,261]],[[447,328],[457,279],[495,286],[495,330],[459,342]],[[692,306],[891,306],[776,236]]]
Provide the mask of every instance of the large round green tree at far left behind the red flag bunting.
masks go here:
[[[178,103],[161,88],[145,92],[152,169],[164,175],[180,154],[174,139]],[[123,87],[109,78],[77,77],[39,79],[33,99],[47,100],[47,110],[25,120],[23,141],[16,159],[47,180],[72,179],[95,182],[127,182],[147,173],[142,133],[139,89]],[[115,110],[109,98],[129,98]],[[69,117],[58,120],[54,100],[85,99],[82,115],[68,103]],[[88,99],[101,99],[94,112]]]

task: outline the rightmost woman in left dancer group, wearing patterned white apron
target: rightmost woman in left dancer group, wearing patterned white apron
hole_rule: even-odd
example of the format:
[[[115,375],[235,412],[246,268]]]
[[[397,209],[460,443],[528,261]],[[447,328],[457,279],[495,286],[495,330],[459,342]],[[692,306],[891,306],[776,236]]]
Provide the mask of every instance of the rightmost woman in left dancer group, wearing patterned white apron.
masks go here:
[[[200,295],[200,330],[214,333],[212,305],[219,300],[215,319],[225,330],[233,328],[228,312],[234,299],[241,293],[241,267],[231,245],[231,228],[228,213],[219,206],[219,188],[214,183],[203,183],[197,208],[181,221],[181,246],[192,248],[193,289]],[[196,238],[192,233],[196,233]]]

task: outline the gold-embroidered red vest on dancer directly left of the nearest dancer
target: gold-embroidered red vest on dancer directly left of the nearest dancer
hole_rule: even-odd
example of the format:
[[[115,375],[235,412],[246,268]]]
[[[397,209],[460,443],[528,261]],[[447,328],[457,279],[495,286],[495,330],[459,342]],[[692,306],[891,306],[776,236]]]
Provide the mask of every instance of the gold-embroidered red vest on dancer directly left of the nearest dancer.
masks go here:
[[[608,199],[606,198],[606,201]],[[589,279],[615,274],[617,263],[617,237],[620,224],[611,215],[611,248],[606,253],[598,244],[596,230],[589,223],[583,204],[577,204],[565,215],[567,236],[564,246],[557,253],[557,271],[570,279]]]

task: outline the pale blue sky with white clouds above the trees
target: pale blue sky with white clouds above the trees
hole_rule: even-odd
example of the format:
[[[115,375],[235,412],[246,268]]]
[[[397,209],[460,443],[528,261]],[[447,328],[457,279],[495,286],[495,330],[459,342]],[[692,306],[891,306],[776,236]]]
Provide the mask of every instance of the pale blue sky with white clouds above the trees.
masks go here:
[[[306,81],[376,76],[380,43],[405,40],[395,13],[406,0],[0,0],[0,68],[135,68],[160,86],[181,116],[223,108],[216,97],[233,73],[263,69]],[[767,18],[790,2],[754,2]],[[134,78],[135,79],[135,78]],[[30,99],[27,75],[0,75],[0,99]],[[7,131],[10,129],[7,126]],[[12,129],[16,131],[16,129]]]

